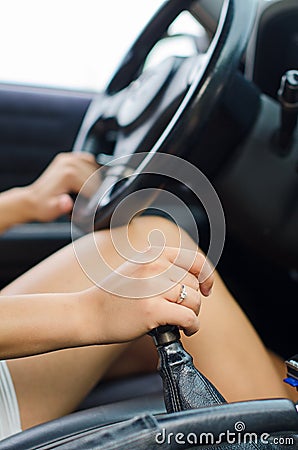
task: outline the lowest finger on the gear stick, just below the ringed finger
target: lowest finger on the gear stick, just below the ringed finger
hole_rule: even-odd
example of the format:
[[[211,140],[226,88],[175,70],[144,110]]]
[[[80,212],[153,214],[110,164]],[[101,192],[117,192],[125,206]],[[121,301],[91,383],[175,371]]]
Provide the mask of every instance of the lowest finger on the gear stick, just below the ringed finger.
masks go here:
[[[176,325],[182,328],[187,336],[191,336],[199,330],[199,319],[189,308],[184,308],[177,303],[163,301],[158,307],[159,325]]]

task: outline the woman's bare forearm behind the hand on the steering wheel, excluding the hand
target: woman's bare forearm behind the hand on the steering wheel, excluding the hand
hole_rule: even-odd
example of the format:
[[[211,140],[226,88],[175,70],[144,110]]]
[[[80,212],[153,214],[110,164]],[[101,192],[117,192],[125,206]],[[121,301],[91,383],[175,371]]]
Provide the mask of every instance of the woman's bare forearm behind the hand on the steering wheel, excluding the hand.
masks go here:
[[[0,233],[32,219],[32,205],[26,188],[13,188],[0,194]]]

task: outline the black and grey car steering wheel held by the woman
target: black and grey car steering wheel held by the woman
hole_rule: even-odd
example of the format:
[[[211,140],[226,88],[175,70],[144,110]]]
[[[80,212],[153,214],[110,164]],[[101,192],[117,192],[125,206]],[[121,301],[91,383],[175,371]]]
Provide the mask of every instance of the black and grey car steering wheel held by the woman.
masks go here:
[[[174,20],[188,11],[200,22],[202,8],[199,0],[168,0],[153,16],[104,92],[91,102],[75,141],[75,152],[93,153],[100,164],[107,163],[100,187],[75,211],[81,228],[107,227],[117,205],[156,170],[158,152],[185,156],[239,65],[256,3],[222,0],[205,53],[172,56],[146,68],[148,55]]]

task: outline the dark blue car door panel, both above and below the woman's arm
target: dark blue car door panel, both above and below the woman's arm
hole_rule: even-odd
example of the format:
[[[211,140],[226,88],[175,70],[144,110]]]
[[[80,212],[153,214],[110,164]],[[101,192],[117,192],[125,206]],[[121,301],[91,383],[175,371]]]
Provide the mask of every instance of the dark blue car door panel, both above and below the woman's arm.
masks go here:
[[[92,94],[0,85],[0,191],[31,183],[72,148]],[[0,238],[0,287],[70,242],[69,218],[27,224]]]

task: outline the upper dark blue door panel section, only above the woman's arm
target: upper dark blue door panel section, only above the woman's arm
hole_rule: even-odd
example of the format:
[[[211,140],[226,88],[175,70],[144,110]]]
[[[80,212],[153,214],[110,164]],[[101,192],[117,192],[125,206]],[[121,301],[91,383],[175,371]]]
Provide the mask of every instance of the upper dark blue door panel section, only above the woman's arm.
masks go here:
[[[90,94],[0,86],[0,190],[36,178],[72,148]]]

